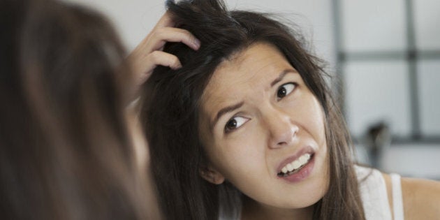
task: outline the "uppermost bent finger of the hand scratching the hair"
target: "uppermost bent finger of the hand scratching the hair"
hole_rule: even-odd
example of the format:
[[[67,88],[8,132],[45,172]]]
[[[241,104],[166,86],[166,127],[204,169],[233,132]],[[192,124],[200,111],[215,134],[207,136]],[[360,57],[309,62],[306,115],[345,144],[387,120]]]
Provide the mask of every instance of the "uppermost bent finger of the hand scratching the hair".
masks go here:
[[[164,27],[157,29],[152,35],[152,42],[155,45],[154,50],[160,50],[166,42],[182,42],[193,50],[200,48],[200,41],[196,36],[193,36],[191,32],[185,29],[179,29],[175,27]]]

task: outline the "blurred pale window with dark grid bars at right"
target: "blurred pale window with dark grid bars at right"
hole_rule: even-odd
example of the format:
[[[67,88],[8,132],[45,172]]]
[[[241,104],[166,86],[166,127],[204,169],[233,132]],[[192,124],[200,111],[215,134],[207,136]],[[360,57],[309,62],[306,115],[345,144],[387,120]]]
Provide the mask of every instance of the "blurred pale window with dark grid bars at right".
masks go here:
[[[342,109],[355,140],[440,143],[440,1],[333,0]]]

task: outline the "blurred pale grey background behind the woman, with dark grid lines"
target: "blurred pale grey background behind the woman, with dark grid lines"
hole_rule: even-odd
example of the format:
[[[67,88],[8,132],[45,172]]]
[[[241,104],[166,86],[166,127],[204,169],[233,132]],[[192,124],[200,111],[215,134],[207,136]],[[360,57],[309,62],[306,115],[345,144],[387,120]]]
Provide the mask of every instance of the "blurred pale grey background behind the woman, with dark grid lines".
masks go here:
[[[131,51],[163,0],[65,0],[97,8]],[[227,0],[294,22],[328,61],[360,163],[440,179],[440,1]]]

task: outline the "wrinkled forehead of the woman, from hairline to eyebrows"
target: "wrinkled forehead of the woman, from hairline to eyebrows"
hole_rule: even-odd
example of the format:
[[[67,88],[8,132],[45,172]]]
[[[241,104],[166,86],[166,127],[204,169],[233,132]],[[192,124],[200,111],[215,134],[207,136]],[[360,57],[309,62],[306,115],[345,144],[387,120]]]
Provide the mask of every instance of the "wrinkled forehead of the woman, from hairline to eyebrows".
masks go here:
[[[212,125],[226,106],[259,105],[270,95],[272,82],[286,70],[295,69],[273,45],[255,43],[223,61],[214,71],[201,98],[201,119]]]

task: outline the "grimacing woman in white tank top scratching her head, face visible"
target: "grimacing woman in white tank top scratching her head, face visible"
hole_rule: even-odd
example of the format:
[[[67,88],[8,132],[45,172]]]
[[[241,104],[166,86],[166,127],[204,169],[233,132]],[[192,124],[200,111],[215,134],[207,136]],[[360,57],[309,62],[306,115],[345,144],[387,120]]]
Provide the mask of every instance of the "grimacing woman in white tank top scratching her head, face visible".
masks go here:
[[[183,67],[156,68],[143,91],[141,119],[167,219],[440,216],[427,205],[439,204],[438,183],[403,179],[399,191],[398,176],[354,166],[321,63],[294,31],[222,1],[167,6],[202,45],[166,45]]]

